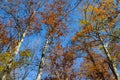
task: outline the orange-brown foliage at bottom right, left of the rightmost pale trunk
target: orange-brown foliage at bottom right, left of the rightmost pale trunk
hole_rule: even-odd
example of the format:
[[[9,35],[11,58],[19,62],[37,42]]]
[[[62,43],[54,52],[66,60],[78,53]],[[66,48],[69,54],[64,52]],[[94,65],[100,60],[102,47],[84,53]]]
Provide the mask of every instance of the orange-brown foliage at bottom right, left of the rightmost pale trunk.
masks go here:
[[[83,62],[80,66],[81,70],[79,72],[80,78],[92,80],[115,80],[113,75],[108,70],[109,67],[106,64],[105,58],[95,53],[91,53],[90,55],[86,55],[83,59]]]

